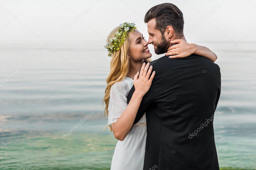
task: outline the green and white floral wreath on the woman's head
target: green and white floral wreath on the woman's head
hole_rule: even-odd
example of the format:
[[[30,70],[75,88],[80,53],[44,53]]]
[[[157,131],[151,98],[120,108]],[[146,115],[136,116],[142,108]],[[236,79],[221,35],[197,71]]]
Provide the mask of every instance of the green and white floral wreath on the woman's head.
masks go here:
[[[135,31],[137,27],[134,23],[124,22],[120,24],[118,31],[115,34],[114,38],[109,38],[109,43],[106,44],[104,47],[108,50],[108,56],[112,56],[112,54],[120,49],[120,46],[124,43],[128,33],[130,31]]]

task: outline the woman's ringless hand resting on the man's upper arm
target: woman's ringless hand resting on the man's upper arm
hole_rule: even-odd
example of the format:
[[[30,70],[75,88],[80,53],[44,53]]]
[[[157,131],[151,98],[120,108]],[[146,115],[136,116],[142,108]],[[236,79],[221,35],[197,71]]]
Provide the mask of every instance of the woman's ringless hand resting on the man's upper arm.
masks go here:
[[[147,65],[143,63],[140,73],[137,72],[133,80],[136,93],[139,93],[142,96],[144,96],[149,90],[152,80],[155,76],[155,71],[154,71],[150,77],[153,66],[150,66],[150,68],[148,69],[149,65],[150,65],[149,63],[147,63]]]

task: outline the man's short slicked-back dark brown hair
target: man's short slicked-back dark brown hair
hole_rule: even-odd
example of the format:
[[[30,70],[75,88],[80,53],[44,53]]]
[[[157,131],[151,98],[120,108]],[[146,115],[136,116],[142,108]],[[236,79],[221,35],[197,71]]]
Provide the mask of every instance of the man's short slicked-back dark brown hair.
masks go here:
[[[177,36],[183,36],[183,13],[180,9],[171,3],[163,3],[150,8],[144,18],[144,22],[147,23],[149,20],[156,20],[156,29],[162,34],[164,33],[168,25],[172,26],[174,33]]]

